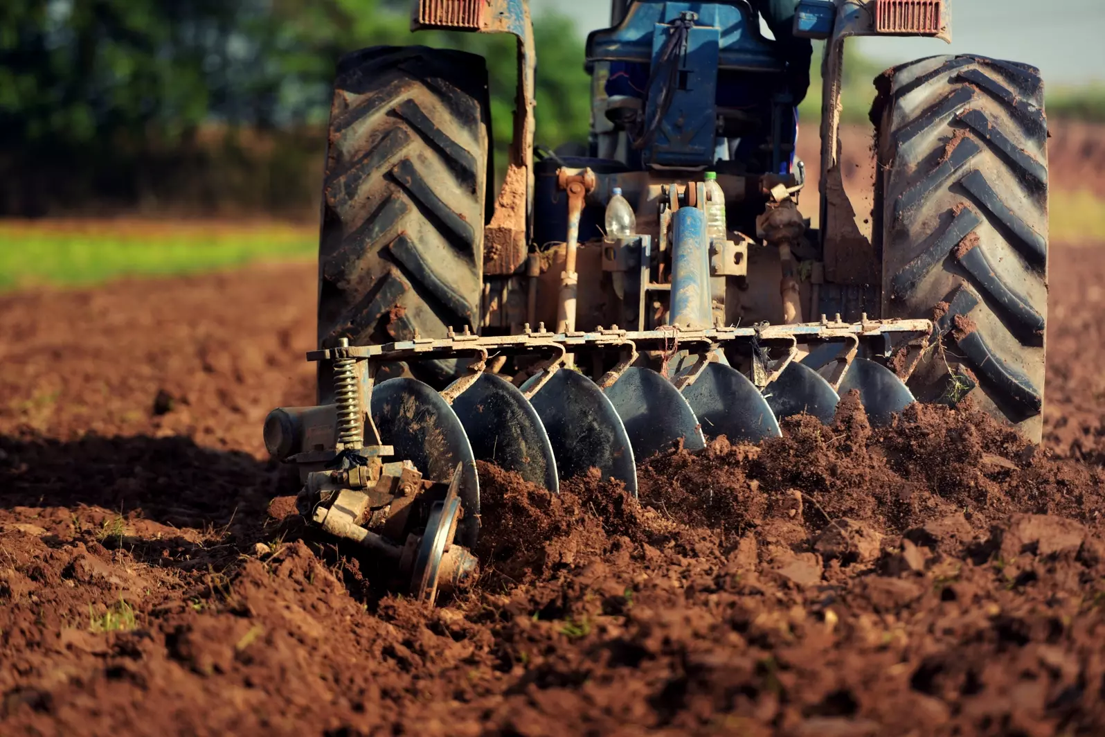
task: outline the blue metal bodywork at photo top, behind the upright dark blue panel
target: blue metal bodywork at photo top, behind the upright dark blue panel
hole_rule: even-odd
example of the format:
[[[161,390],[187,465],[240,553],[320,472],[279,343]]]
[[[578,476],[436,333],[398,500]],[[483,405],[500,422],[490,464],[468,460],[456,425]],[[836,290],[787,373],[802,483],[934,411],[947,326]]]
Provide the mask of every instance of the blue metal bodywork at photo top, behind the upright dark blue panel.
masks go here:
[[[630,4],[617,28],[593,31],[587,38],[587,63],[598,61],[652,62],[657,24],[666,25],[681,13],[698,14],[696,27],[718,31],[718,69],[781,72],[786,67],[775,45],[760,35],[751,7],[736,2],[665,2],[639,0]]]

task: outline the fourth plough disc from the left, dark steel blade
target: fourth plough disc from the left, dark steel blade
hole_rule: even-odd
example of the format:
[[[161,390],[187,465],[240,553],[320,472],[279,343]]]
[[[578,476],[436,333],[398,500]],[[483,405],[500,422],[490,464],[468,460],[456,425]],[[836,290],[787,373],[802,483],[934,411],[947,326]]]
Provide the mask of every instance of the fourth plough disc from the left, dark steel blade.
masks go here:
[[[688,451],[706,446],[691,404],[656,371],[629,368],[606,393],[625,425],[633,456],[639,461],[669,451],[681,440]]]

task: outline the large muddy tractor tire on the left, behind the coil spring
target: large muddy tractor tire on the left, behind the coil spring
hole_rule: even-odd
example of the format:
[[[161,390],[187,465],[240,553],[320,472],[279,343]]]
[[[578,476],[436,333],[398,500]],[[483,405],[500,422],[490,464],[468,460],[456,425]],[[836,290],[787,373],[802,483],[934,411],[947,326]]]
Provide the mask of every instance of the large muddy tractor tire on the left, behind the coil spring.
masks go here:
[[[488,122],[482,56],[375,46],[338,63],[318,249],[320,345],[476,328]],[[455,361],[410,370],[440,388]]]

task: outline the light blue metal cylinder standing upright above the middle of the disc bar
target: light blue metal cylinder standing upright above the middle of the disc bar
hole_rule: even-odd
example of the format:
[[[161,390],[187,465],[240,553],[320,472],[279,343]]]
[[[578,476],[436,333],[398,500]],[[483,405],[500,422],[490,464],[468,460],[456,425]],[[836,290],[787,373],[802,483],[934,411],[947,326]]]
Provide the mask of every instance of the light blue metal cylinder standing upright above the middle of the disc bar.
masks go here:
[[[709,302],[709,239],[706,213],[680,208],[672,215],[672,325],[702,329],[713,324]]]

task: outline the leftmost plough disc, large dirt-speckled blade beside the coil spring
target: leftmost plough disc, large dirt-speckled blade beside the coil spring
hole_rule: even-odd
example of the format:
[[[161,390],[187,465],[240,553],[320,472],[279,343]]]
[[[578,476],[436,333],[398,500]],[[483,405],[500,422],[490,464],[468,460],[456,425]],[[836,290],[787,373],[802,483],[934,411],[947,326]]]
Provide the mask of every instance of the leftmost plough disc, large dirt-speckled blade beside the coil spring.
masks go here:
[[[410,461],[425,478],[452,478],[463,464],[457,495],[464,518],[456,530],[463,546],[475,545],[480,533],[480,481],[476,459],[453,408],[429,385],[417,379],[388,379],[372,387],[372,421],[394,457]]]

